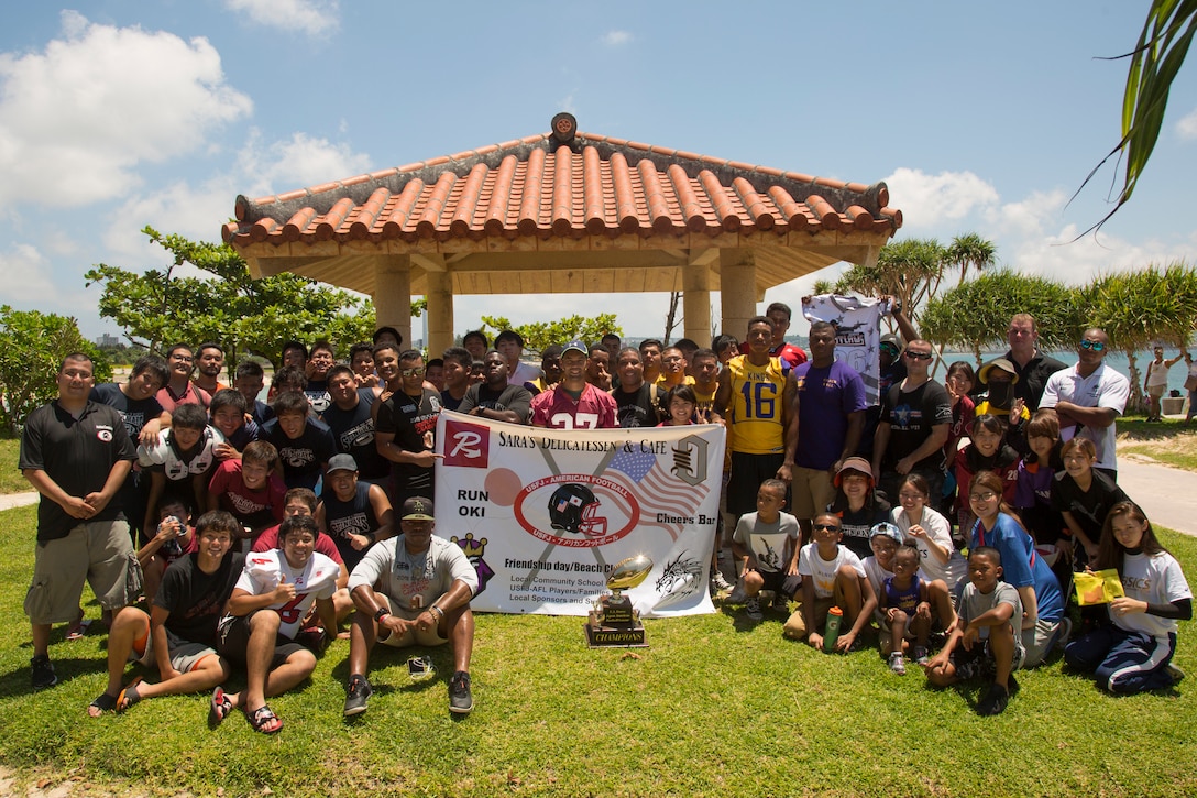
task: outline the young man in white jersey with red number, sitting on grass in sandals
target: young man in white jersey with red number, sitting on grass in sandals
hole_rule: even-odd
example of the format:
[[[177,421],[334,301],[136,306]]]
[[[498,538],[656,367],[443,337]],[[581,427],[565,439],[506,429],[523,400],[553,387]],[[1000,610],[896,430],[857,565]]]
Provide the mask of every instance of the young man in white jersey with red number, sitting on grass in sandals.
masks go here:
[[[225,693],[218,687],[209,725],[241,707],[254,731],[273,734],[282,729],[266,699],[286,693],[316,669],[316,655],[294,642],[312,601],[326,634],[336,635],[332,597],[341,568],[314,550],[316,533],[314,518],[292,515],[279,530],[281,550],[245,557],[218,633],[220,653],[245,666],[245,689]]]

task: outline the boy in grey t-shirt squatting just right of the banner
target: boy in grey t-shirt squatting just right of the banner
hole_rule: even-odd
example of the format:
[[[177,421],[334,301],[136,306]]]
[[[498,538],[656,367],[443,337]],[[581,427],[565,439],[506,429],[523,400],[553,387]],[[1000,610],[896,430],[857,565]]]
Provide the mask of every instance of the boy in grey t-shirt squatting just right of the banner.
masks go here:
[[[731,552],[743,566],[735,598],[743,597],[740,600],[745,601],[745,612],[753,621],[762,617],[758,598],[761,590],[773,591],[774,610],[786,615],[790,611],[785,579],[798,573],[800,528],[798,519],[783,513],[783,507],[785,483],[780,479],[766,479],[757,490],[757,512],[741,516],[731,536]],[[729,596],[728,600],[731,599]]]

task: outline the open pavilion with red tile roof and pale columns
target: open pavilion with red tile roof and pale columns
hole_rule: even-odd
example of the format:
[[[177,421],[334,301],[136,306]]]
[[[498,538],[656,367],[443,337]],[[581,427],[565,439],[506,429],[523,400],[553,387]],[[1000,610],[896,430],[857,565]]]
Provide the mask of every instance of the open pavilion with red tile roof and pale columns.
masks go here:
[[[871,265],[901,226],[871,186],[581,133],[548,133],[263,197],[238,197],[224,241],[255,278],[292,272],[369,294],[429,351],[454,341],[458,295],[682,291],[685,334],[743,337],[774,285]],[[606,310],[596,308],[596,312]]]

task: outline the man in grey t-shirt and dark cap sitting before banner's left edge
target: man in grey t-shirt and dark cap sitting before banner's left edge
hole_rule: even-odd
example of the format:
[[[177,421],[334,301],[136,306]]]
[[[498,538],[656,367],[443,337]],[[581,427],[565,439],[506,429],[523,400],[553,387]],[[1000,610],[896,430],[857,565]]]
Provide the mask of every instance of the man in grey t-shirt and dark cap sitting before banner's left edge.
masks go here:
[[[474,651],[474,613],[469,600],[478,573],[454,543],[432,536],[432,502],[421,496],[403,502],[403,533],[366,552],[350,575],[350,594],[358,611],[350,631],[350,683],[345,714],[366,711],[373,690],[366,663],[375,642],[396,648],[452,642],[454,675],[449,712],[474,708],[469,690],[469,658]]]

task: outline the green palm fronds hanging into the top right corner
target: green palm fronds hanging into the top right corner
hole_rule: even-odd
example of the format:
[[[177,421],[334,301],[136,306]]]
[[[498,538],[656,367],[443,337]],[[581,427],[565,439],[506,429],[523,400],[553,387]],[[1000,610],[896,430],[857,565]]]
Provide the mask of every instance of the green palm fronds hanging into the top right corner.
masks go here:
[[[1114,155],[1119,161],[1125,159],[1126,171],[1113,210],[1081,236],[1100,230],[1135,192],[1138,177],[1147,168],[1155,143],[1160,138],[1172,80],[1184,64],[1195,32],[1197,32],[1197,2],[1153,0],[1135,49],[1117,56],[1130,59],[1126,91],[1123,95],[1122,140],[1101,159],[1101,163],[1093,168],[1076,193],[1080,194]],[[1076,194],[1073,197],[1075,199]]]

